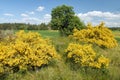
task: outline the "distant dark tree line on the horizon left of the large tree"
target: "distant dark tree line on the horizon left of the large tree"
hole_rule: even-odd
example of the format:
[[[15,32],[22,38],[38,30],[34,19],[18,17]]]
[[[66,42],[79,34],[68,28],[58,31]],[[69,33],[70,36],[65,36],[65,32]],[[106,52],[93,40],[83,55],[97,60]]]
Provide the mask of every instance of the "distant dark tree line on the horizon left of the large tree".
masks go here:
[[[1,23],[0,30],[49,30],[50,23],[26,24],[26,23]]]

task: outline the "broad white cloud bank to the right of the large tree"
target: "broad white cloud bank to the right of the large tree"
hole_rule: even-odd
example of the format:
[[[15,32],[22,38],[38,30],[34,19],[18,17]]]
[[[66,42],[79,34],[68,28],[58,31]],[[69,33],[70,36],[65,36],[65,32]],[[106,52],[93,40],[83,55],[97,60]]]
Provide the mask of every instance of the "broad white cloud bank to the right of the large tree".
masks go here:
[[[120,26],[120,13],[90,11],[87,13],[76,14],[85,23],[92,22],[94,25],[104,21],[109,27]]]

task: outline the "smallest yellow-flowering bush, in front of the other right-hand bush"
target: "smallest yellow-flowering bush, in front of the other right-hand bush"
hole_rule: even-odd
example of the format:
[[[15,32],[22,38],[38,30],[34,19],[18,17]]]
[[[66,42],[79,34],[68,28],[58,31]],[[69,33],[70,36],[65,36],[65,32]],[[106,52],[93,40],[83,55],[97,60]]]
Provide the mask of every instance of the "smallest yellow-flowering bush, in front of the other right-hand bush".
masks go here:
[[[67,53],[67,58],[80,66],[106,68],[109,65],[109,59],[102,55],[98,57],[91,45],[70,43],[65,52]]]

